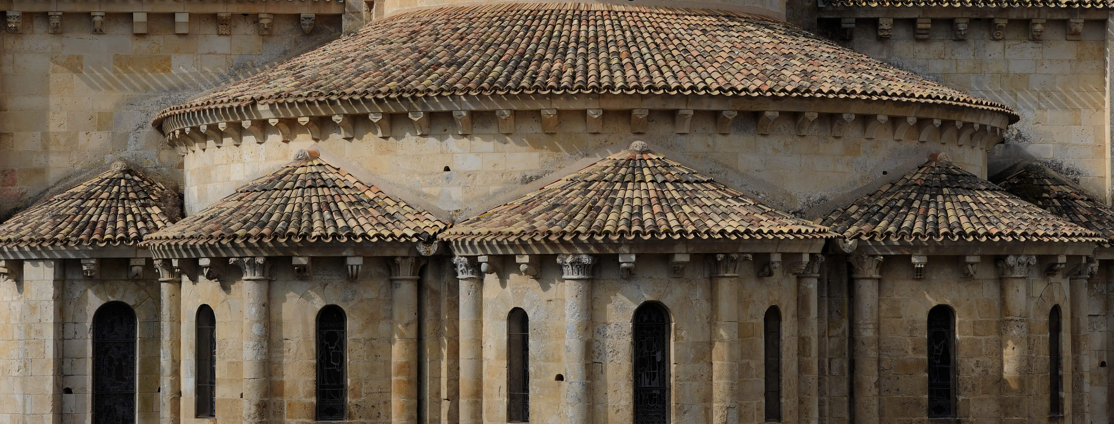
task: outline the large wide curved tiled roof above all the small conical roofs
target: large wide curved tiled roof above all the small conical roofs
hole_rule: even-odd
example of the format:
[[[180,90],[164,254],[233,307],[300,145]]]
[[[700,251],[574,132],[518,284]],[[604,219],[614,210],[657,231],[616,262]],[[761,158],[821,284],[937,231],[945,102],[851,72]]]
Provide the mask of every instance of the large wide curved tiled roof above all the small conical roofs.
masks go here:
[[[701,93],[1000,103],[785,22],[731,11],[524,3],[402,13],[163,110],[517,93]]]

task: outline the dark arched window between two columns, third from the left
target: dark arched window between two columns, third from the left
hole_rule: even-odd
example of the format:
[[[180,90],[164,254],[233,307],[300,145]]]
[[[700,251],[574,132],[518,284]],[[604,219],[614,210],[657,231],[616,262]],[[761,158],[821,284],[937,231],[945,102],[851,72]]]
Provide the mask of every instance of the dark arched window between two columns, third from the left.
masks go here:
[[[343,421],[348,401],[344,373],[346,317],[340,306],[317,313],[317,421]]]

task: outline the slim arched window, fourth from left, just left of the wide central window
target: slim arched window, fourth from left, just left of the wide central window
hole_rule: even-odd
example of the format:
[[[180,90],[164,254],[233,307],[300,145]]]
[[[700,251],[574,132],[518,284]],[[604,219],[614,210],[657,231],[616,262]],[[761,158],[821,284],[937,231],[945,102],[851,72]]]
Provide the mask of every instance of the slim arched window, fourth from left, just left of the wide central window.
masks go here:
[[[507,314],[507,421],[530,422],[530,318],[522,308]]]

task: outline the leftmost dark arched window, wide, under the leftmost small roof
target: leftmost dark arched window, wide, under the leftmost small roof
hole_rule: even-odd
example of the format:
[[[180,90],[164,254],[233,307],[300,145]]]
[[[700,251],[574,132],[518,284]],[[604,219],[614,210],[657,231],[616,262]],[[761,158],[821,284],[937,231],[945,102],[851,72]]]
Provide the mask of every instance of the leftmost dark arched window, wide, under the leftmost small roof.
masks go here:
[[[109,302],[92,316],[92,424],[136,422],[136,314]]]

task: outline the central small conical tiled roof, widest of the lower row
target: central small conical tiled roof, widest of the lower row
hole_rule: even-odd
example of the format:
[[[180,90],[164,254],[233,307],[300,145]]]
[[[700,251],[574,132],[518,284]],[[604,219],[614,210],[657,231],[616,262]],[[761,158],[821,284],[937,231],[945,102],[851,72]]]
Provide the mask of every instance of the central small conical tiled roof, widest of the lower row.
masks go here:
[[[465,219],[440,238],[597,241],[829,236],[824,227],[765,206],[635,141],[628,150]]]

